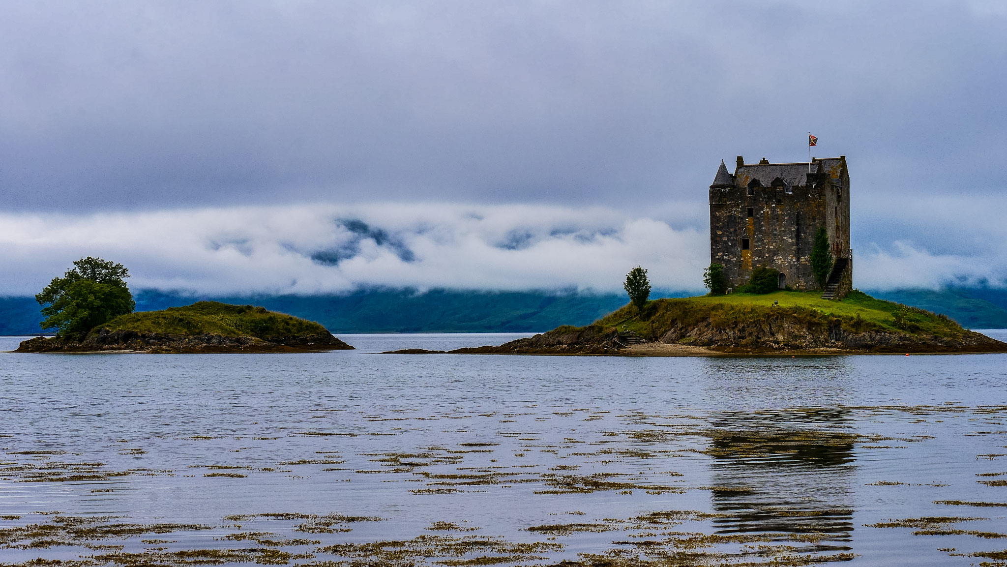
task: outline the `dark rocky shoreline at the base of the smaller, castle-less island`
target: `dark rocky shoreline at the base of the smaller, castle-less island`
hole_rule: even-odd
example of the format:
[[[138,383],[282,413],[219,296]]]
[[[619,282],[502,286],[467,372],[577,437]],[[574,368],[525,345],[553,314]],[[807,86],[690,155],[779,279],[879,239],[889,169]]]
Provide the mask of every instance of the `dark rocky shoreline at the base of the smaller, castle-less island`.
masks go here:
[[[25,340],[15,352],[110,352],[133,351],[150,353],[182,352],[313,352],[347,350],[353,347],[331,333],[301,334],[264,340],[256,336],[225,336],[221,334],[143,333],[134,330],[100,329],[84,340],[36,336]]]

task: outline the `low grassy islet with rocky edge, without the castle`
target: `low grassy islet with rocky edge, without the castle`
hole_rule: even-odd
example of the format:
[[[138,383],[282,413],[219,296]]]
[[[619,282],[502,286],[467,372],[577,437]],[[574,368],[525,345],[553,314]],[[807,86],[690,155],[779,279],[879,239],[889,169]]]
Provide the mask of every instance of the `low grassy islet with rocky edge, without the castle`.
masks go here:
[[[37,336],[15,352],[307,352],[353,347],[322,325],[252,305],[199,301],[119,315],[83,337]]]

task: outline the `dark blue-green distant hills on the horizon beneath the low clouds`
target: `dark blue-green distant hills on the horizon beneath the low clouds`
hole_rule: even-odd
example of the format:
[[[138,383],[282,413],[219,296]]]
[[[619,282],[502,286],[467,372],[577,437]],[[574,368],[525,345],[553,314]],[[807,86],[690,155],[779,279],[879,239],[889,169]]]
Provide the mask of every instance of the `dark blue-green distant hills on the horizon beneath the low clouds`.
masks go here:
[[[866,290],[874,297],[948,315],[966,328],[1007,328],[1007,290]],[[695,292],[656,290],[652,298]],[[574,291],[361,290],[346,295],[189,296],[154,290],[136,294],[138,311],[179,307],[198,300],[261,305],[317,321],[336,334],[359,332],[540,332],[563,324],[583,326],[626,303],[623,293]],[[31,297],[0,297],[0,334],[39,332]]]

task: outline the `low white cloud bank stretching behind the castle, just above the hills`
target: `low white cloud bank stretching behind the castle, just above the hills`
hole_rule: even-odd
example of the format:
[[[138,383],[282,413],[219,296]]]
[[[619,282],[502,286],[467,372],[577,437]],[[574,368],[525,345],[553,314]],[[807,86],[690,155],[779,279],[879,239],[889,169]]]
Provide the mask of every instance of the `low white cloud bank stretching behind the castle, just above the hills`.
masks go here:
[[[1003,231],[997,227],[987,238],[1003,242],[992,234]],[[908,240],[854,247],[855,283],[864,289],[1007,281],[1004,246],[972,253],[931,253]],[[636,265],[650,270],[656,288],[699,291],[708,251],[705,227],[673,228],[600,207],[386,203],[7,214],[0,215],[0,295],[36,293],[83,256],[126,265],[135,289],[198,294],[369,286],[619,291]]]

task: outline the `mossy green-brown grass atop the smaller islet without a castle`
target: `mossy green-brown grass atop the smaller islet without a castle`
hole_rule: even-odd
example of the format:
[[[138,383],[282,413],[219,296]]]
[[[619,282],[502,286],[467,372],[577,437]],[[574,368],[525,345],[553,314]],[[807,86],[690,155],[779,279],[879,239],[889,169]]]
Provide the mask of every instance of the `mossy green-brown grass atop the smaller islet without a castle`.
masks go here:
[[[218,301],[198,301],[185,307],[162,311],[129,313],[99,325],[98,329],[133,330],[161,334],[220,334],[257,336],[264,340],[301,334],[328,333],[320,324],[252,305],[230,305]]]

